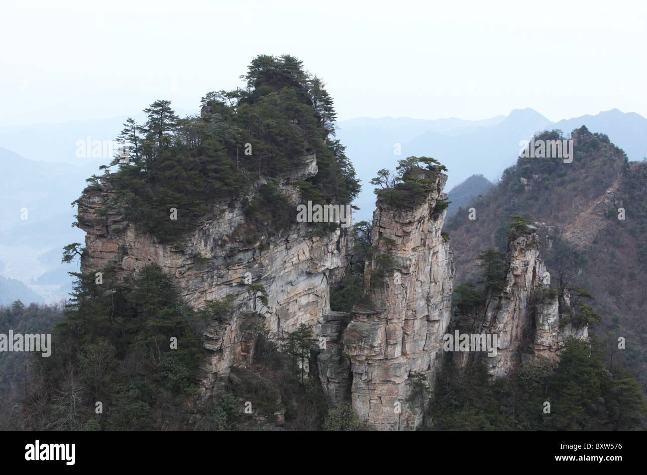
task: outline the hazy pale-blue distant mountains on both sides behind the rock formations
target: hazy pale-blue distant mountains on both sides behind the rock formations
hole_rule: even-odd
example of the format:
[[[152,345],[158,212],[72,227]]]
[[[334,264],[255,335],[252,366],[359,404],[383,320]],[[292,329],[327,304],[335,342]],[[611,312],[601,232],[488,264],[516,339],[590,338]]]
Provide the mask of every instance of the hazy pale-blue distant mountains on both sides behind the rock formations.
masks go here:
[[[135,119],[141,123],[144,116],[139,114]],[[80,147],[87,151],[94,141],[114,140],[125,120],[116,117],[0,127],[0,260],[5,263],[0,276],[23,282],[27,290],[49,302],[67,296],[72,282],[67,272],[78,271],[78,264],[60,264],[61,248],[83,242],[84,237],[82,231],[71,227],[76,210],[70,204],[85,187],[85,178],[98,174],[98,166],[111,160],[111,156],[83,156]],[[371,220],[375,195],[369,182],[379,169],[395,169],[400,158],[432,156],[448,167],[445,189],[450,190],[453,202],[451,214],[483,194],[489,182],[516,162],[521,140],[547,129],[561,129],[568,135],[582,125],[608,134],[630,160],[647,156],[647,119],[618,109],[558,122],[532,109],[515,109],[508,116],[476,121],[389,117],[340,121],[337,137],[347,147],[346,154],[363,185],[355,201],[360,211],[354,213],[353,220]],[[395,154],[397,147],[400,155]],[[22,209],[27,209],[26,220],[21,219]],[[12,282],[0,286],[0,299],[15,300],[16,284]]]

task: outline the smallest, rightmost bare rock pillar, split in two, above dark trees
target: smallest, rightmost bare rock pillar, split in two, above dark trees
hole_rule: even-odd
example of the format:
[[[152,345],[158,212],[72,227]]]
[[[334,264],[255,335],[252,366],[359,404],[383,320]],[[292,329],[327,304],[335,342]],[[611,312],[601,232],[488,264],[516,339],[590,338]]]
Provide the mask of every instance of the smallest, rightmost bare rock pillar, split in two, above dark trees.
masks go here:
[[[476,333],[498,335],[497,354],[457,355],[462,364],[481,358],[492,377],[510,374],[518,364],[538,355],[558,359],[569,336],[588,338],[587,326],[574,328],[562,321],[560,310],[568,315],[571,311],[568,295],[560,309],[558,296],[545,293],[549,275],[539,258],[541,245],[534,231],[534,226],[528,226],[527,235],[509,240],[505,287],[492,293],[485,316],[473,328]]]

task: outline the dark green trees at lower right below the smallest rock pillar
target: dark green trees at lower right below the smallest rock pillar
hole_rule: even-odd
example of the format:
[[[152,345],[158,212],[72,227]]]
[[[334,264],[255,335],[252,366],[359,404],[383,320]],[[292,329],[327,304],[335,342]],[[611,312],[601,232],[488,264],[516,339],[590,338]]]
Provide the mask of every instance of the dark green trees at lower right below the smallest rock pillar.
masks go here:
[[[551,403],[550,414],[543,412]],[[425,428],[432,430],[631,430],[647,414],[635,378],[606,368],[595,337],[570,337],[556,368],[539,357],[488,380],[484,365],[448,364],[436,385]]]

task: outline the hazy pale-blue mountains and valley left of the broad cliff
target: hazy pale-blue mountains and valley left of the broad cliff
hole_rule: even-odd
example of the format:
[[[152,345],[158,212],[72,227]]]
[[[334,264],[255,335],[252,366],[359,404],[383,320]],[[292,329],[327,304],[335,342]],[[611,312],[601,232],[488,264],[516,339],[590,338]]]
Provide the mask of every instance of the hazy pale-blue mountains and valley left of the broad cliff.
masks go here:
[[[38,142],[38,140],[34,140]],[[98,164],[36,162],[0,147],[0,302],[57,302],[67,297],[78,263],[61,264],[62,248],[83,242],[71,227],[85,178]],[[38,295],[37,295],[38,294]]]

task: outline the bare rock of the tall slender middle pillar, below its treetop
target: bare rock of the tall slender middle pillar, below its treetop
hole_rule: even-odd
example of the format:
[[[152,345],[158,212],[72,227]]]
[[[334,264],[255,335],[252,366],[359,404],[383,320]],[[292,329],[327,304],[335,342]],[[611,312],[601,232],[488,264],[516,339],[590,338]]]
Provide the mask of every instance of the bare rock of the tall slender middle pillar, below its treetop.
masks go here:
[[[414,429],[422,421],[428,393],[416,383],[430,379],[442,361],[442,337],[450,322],[453,255],[441,236],[446,210],[434,212],[446,175],[419,206],[399,209],[378,199],[371,240],[377,257],[370,274],[369,305],[356,305],[342,342],[353,373],[351,400],[360,421],[380,430]],[[368,275],[368,274],[367,274]]]

